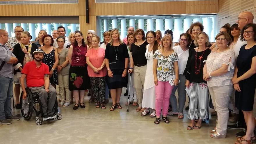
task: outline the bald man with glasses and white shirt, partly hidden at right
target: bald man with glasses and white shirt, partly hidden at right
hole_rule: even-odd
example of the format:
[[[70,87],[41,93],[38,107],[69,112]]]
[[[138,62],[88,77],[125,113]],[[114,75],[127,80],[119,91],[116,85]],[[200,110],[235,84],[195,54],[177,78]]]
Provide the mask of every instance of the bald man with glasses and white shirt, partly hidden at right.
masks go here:
[[[240,30],[242,30],[243,27],[246,24],[250,24],[250,23],[253,23],[253,14],[251,12],[248,12],[248,11],[241,12],[238,15],[237,24],[238,24],[238,28]],[[234,46],[234,51],[235,51],[235,54],[236,54],[236,58],[239,54],[240,48],[245,44],[247,44],[247,42],[246,41],[241,41],[241,39],[239,37],[238,40],[237,40],[237,44]],[[227,127],[230,128],[230,129],[243,129],[242,131],[238,132],[236,134],[236,136],[237,137],[244,136],[246,134],[246,123],[245,123],[245,120],[244,120],[243,112],[239,110],[238,122],[234,125],[228,125]]]

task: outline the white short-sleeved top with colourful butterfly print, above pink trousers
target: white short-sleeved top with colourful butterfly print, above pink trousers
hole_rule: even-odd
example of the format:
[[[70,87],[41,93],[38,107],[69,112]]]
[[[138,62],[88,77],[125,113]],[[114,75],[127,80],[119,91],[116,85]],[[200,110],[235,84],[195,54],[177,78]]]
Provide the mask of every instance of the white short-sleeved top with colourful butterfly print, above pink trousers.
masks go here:
[[[159,81],[168,81],[168,77],[175,74],[174,62],[179,61],[178,54],[173,52],[168,56],[163,56],[159,50],[155,51],[154,57],[157,62],[157,79]]]

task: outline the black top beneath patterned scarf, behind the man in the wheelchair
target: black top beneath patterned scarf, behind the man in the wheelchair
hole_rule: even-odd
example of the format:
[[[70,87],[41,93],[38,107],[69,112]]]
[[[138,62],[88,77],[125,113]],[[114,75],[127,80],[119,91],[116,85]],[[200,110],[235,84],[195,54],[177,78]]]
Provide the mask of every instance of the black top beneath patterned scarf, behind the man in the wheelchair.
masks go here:
[[[28,45],[25,45],[27,51],[29,49],[29,46]],[[31,55],[34,59],[34,55],[33,55],[33,52],[35,51],[35,49],[37,49],[37,46],[36,44],[32,43],[31,44]],[[18,62],[13,64],[13,66],[17,65],[18,63],[22,64],[22,68],[23,68],[23,61],[24,61],[24,57],[25,57],[25,53],[22,51],[21,47],[20,47],[20,44],[17,43],[14,47],[13,47],[13,54],[16,56],[16,58],[18,59]],[[20,70],[14,70],[14,74],[16,74],[17,72],[20,72]]]

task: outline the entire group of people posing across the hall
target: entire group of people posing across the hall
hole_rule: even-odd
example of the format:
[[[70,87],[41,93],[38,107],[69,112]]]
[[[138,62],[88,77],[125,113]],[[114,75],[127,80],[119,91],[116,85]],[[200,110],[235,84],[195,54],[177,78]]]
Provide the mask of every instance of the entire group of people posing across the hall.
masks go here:
[[[90,101],[95,100],[96,108],[106,109],[110,92],[110,111],[122,109],[120,96],[122,88],[127,87],[131,98],[125,105],[138,106],[136,111],[141,116],[156,117],[155,124],[160,123],[161,112],[165,123],[170,122],[167,115],[184,118],[187,93],[187,116],[191,120],[188,130],[200,129],[209,118],[211,97],[218,119],[210,136],[226,137],[230,109],[239,115],[240,123],[244,121],[241,125],[247,129],[236,143],[252,143],[256,139],[252,112],[256,86],[253,15],[242,12],[237,24],[221,27],[213,45],[203,30],[201,23],[191,24],[187,33],[179,35],[178,43],[173,42],[171,30],[162,35],[161,31],[134,31],[132,26],[123,40],[118,29],[104,32],[103,42],[94,31],[88,32],[86,40],[80,31],[70,33],[67,38],[63,26],[53,32],[55,38],[41,30],[34,43],[30,42],[29,32],[20,26],[15,27],[14,38],[8,39],[8,33],[0,30],[0,85],[4,89],[0,92],[0,123],[18,120],[11,115],[10,108],[13,79],[16,108],[20,107],[20,85],[23,91],[28,87],[42,94],[45,119],[54,117],[52,102],[47,102],[47,97],[54,101],[56,85],[61,97],[58,106],[69,106],[74,97],[74,110],[85,108],[85,90],[90,90]]]

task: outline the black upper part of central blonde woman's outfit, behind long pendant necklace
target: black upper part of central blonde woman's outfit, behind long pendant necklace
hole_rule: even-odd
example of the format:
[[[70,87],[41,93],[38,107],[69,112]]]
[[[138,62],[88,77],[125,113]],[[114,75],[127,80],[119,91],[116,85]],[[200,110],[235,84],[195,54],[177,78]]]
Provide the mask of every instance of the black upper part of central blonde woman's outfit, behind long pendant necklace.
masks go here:
[[[105,58],[109,59],[109,63],[116,61],[115,60],[116,53],[117,53],[117,61],[125,62],[125,58],[129,58],[128,49],[125,43],[115,47],[108,43],[106,45]]]

